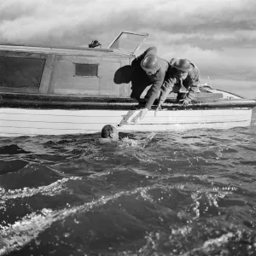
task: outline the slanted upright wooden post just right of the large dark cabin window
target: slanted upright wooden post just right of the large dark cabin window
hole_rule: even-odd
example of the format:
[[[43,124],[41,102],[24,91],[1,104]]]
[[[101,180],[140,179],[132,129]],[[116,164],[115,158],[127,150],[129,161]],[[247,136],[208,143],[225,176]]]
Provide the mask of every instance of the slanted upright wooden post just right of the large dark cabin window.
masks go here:
[[[45,64],[44,72],[41,79],[41,84],[39,87],[39,93],[47,94],[49,91],[50,80],[55,66],[55,55],[48,55]]]

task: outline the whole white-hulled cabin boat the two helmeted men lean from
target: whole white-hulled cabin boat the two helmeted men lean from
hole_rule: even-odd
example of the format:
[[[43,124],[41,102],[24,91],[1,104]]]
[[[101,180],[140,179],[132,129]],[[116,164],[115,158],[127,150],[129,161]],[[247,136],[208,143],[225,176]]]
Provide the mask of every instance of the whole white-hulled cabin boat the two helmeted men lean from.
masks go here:
[[[106,49],[0,44],[0,136],[96,133],[107,124],[119,131],[250,125],[255,101],[207,84],[188,107],[171,94],[156,116],[154,105],[134,122],[143,106],[130,98],[131,84],[115,76],[131,65],[147,37],[120,32]]]

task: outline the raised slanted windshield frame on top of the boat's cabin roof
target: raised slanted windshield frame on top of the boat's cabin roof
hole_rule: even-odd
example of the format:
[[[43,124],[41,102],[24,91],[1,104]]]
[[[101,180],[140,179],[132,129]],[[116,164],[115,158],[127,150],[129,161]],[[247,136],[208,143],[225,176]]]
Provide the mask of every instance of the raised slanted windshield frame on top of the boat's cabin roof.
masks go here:
[[[119,36],[108,46],[108,49],[117,50],[127,55],[133,55],[146,38],[148,38],[147,33],[120,32]]]

